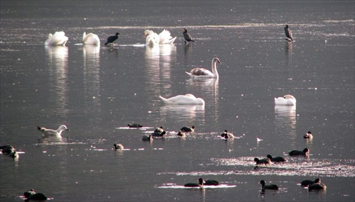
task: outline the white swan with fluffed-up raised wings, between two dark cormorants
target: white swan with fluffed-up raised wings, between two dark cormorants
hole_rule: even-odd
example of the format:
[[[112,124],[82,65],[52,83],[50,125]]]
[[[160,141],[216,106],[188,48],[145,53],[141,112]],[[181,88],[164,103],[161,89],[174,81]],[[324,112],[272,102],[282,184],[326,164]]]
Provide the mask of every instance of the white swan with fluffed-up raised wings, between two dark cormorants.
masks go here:
[[[144,37],[146,37],[146,45],[172,44],[175,38],[170,35],[170,31],[163,30],[159,35],[152,30],[145,30]]]

